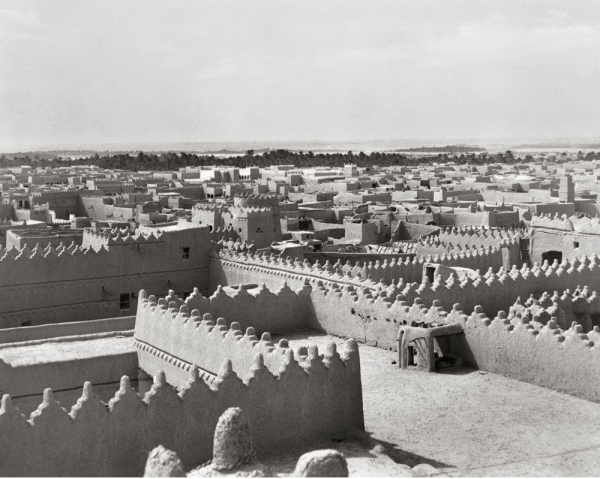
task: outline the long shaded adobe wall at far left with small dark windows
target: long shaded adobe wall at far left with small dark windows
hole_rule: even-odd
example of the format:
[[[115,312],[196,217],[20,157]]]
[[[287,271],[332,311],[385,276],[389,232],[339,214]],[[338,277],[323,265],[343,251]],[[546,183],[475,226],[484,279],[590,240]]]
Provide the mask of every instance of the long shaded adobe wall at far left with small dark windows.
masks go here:
[[[182,257],[183,246],[190,248],[188,259]],[[156,294],[208,289],[208,228],[165,232],[159,241],[116,238],[108,247],[5,252],[0,327],[127,316],[136,308],[132,293],[142,287]],[[121,311],[121,294],[130,294],[130,309]]]

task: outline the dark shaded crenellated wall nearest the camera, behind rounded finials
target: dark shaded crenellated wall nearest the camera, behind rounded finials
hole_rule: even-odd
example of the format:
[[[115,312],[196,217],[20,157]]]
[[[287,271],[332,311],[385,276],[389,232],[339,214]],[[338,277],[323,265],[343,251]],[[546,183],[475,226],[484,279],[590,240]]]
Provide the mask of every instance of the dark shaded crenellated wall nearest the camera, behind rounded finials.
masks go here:
[[[86,383],[70,411],[47,389],[30,418],[5,395],[0,475],[139,477],[158,445],[177,450],[194,468],[211,459],[214,428],[229,407],[244,410],[259,454],[363,430],[358,349],[356,343],[349,347],[324,356],[309,348],[300,362],[289,351],[276,374],[258,353],[245,380],[225,360],[210,384],[192,369],[180,392],[158,372],[143,398],[125,376],[108,404]]]

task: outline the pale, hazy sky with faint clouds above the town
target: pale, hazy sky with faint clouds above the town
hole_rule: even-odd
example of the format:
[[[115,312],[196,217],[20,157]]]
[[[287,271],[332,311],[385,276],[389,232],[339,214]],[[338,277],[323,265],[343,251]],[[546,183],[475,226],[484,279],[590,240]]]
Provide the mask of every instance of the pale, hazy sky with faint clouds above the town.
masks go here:
[[[600,138],[600,2],[0,0],[0,145]]]

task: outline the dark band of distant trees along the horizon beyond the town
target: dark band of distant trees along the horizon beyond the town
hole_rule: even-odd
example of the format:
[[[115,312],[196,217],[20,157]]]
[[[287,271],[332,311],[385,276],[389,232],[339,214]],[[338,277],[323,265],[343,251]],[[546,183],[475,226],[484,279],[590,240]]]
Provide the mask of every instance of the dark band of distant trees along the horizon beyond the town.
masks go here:
[[[579,159],[600,160],[600,152],[580,152]],[[96,165],[106,169],[120,169],[129,171],[173,171],[186,166],[210,166],[223,165],[224,167],[244,168],[249,166],[258,166],[261,168],[273,165],[293,164],[299,168],[310,168],[316,166],[340,167],[348,163],[353,163],[359,167],[378,165],[379,167],[389,166],[419,166],[431,165],[439,162],[453,161],[458,165],[485,165],[490,163],[518,164],[533,161],[531,155],[517,156],[511,151],[500,153],[438,153],[423,155],[407,155],[401,152],[372,152],[365,154],[362,151],[353,153],[313,153],[293,152],[288,150],[270,150],[262,153],[255,153],[252,150],[245,154],[237,156],[220,157],[214,155],[203,155],[195,153],[144,153],[136,154],[117,153],[117,154],[94,154],[81,158],[62,158],[53,156],[50,153],[41,154],[11,154],[0,156],[0,167],[10,168],[17,165],[29,165],[31,167],[56,168],[60,166],[74,165]],[[568,156],[563,153],[556,158],[557,163],[568,161]]]

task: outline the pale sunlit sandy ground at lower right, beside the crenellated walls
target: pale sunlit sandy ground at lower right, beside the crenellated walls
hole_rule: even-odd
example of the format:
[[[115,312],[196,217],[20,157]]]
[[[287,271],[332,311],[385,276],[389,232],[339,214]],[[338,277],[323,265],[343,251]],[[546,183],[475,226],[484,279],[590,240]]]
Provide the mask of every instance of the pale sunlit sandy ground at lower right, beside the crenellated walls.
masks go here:
[[[343,343],[316,332],[286,338],[291,347]],[[600,404],[482,371],[402,370],[396,353],[370,346],[360,354],[368,437],[314,445],[345,452],[351,474],[395,476],[426,463],[452,476],[600,475]]]

